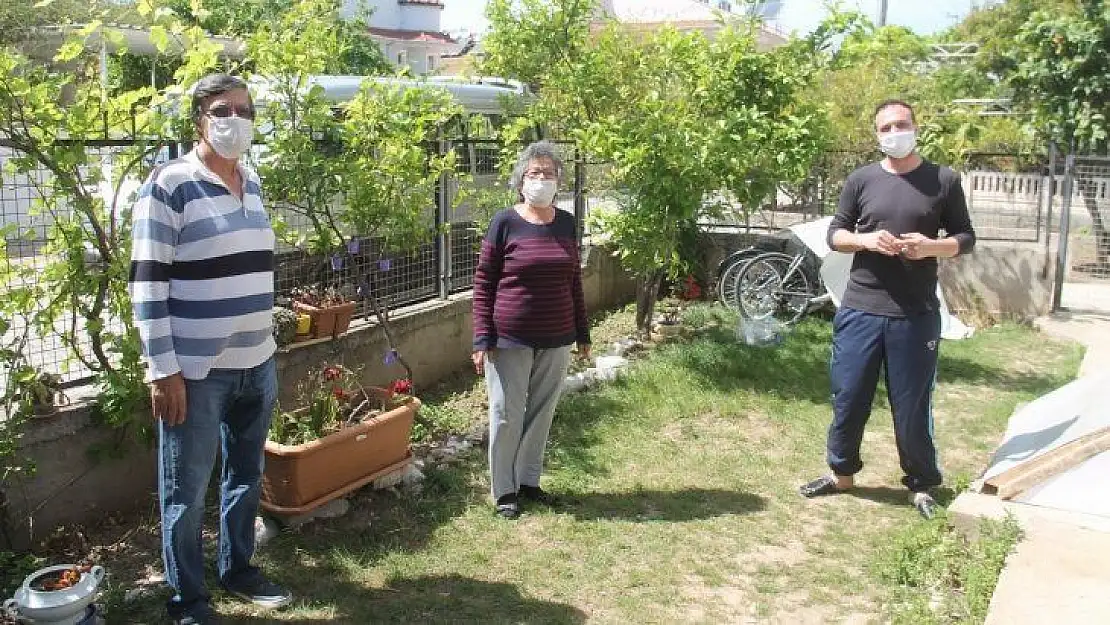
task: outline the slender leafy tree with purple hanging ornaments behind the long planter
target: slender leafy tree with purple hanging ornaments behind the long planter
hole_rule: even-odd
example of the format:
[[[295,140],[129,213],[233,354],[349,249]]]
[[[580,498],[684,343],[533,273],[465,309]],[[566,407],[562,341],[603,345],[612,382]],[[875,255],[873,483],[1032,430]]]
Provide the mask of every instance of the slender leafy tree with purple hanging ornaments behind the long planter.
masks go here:
[[[306,47],[306,58],[320,58]],[[321,61],[323,59],[321,58]],[[259,172],[268,181],[271,201],[305,225],[289,228],[283,240],[313,259],[326,259],[321,282],[342,284],[351,299],[364,302],[367,321],[384,335],[389,359],[414,380],[392,329],[390,306],[400,268],[395,261],[416,258],[421,249],[444,233],[430,210],[445,177],[456,172],[455,152],[437,142],[442,129],[464,113],[441,89],[383,85],[367,79],[350,100],[332,102],[322,90],[304,89],[314,73],[296,56],[273,56],[258,68],[275,85],[275,97],[260,111],[272,124],[266,155]],[[342,114],[334,114],[335,108]],[[313,128],[320,152],[305,163],[294,160],[305,142],[304,128]],[[430,147],[434,147],[430,149]],[[450,211],[461,194],[450,194]],[[396,264],[400,264],[397,262]],[[326,336],[326,313],[307,294],[295,296],[294,310],[314,314],[314,336]],[[354,306],[347,309],[354,311]],[[337,327],[343,327],[342,319]]]

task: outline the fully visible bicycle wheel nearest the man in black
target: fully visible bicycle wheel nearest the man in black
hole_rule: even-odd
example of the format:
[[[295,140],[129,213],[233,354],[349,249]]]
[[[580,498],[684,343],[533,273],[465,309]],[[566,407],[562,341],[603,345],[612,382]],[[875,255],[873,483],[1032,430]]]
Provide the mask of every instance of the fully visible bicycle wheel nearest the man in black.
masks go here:
[[[733,286],[740,313],[755,320],[774,316],[786,325],[801,319],[816,295],[803,260],[778,252],[749,260],[736,274]]]

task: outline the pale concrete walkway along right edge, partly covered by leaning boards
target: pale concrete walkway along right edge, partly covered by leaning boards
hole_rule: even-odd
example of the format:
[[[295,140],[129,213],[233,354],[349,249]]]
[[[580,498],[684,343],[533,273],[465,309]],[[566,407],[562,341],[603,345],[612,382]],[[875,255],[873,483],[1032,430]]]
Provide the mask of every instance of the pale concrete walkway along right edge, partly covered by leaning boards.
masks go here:
[[[1110,367],[1110,314],[1060,312],[1035,324],[1046,334],[1087,347],[1080,376]],[[987,625],[1110,623],[1110,517],[971,492],[957,497],[948,514],[953,525],[969,533],[979,518],[1012,514],[1025,532],[998,578]]]

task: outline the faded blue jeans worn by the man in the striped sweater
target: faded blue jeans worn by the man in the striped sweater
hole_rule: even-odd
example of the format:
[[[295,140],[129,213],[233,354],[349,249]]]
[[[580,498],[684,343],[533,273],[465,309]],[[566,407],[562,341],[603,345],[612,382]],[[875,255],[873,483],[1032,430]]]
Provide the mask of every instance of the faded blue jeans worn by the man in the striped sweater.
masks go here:
[[[212,370],[204,380],[185,380],[185,422],[173,427],[159,422],[162,561],[174,589],[171,615],[188,614],[210,598],[201,528],[218,450],[223,453],[220,581],[252,571],[263,448],[276,397],[278,366],[271,357],[254,369]]]

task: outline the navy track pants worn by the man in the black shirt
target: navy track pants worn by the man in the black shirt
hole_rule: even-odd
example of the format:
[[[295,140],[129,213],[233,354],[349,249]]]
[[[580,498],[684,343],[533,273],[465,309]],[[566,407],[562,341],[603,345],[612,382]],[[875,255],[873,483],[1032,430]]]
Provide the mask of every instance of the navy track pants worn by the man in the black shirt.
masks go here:
[[[837,475],[864,467],[859,447],[871,402],[886,372],[887,397],[895,420],[895,441],[902,484],[914,492],[941,483],[932,436],[932,386],[940,349],[940,315],[908,317],[841,308],[833,320],[833,424],[828,463]]]

